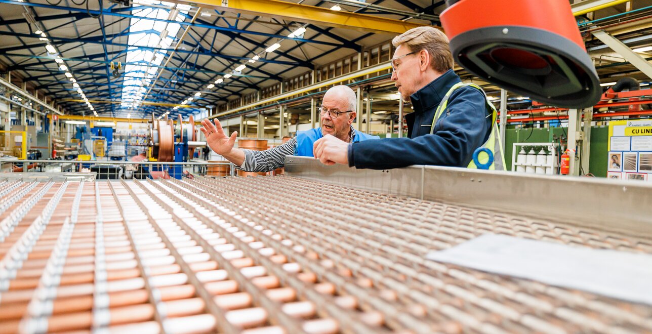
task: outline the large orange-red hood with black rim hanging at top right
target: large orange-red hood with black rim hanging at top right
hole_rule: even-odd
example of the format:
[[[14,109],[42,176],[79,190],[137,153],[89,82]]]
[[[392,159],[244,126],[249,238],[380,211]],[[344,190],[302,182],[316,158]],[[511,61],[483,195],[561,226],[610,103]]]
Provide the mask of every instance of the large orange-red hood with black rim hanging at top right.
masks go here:
[[[567,0],[448,0],[441,25],[460,66],[546,104],[586,108],[602,90]]]

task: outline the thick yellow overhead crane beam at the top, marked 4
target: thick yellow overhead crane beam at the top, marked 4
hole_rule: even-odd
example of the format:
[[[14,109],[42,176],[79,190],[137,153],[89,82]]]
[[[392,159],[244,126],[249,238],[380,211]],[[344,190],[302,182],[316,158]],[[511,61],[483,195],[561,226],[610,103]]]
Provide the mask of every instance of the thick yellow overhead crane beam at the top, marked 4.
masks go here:
[[[381,18],[366,14],[331,10],[329,8],[300,5],[279,0],[172,0],[193,6],[211,7],[254,16],[265,16],[282,20],[315,23],[328,27],[355,29],[372,33],[400,35],[422,24]]]

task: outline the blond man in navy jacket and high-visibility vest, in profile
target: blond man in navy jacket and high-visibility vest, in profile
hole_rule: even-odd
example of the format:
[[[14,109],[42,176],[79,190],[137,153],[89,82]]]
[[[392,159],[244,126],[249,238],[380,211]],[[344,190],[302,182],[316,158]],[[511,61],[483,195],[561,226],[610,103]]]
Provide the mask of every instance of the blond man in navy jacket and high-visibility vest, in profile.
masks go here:
[[[401,98],[414,112],[406,115],[408,138],[344,143],[325,136],[314,145],[324,164],[388,169],[411,164],[477,168],[473,153],[484,147],[494,155],[489,168],[503,170],[496,108],[477,85],[462,84],[453,72],[446,35],[434,27],[417,27],[394,38],[392,78]],[[482,153],[479,162],[489,158]]]

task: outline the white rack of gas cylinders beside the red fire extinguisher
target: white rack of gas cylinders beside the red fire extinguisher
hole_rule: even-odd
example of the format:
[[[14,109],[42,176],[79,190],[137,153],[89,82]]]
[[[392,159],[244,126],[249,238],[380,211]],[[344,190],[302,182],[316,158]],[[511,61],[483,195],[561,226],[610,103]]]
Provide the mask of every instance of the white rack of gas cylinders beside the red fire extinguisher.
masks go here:
[[[556,143],[514,143],[512,171],[528,174],[559,174]]]

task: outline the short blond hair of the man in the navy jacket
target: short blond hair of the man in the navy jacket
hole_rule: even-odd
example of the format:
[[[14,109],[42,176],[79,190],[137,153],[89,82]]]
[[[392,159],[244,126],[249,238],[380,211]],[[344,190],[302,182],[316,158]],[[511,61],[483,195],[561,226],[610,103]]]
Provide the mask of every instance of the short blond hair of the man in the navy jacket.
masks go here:
[[[426,50],[430,55],[430,65],[437,72],[446,72],[453,67],[449,40],[435,27],[416,27],[394,37],[395,48],[405,44],[411,52]]]

